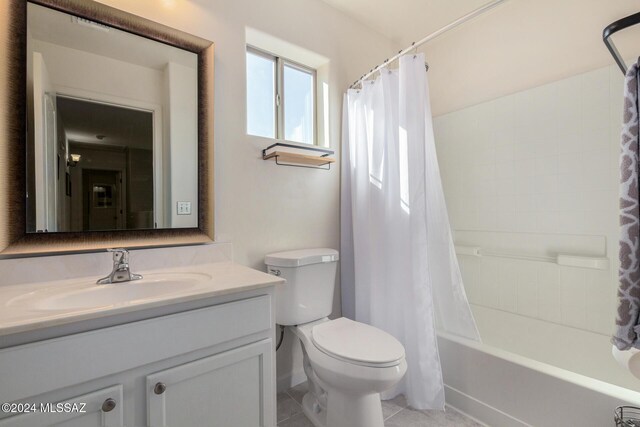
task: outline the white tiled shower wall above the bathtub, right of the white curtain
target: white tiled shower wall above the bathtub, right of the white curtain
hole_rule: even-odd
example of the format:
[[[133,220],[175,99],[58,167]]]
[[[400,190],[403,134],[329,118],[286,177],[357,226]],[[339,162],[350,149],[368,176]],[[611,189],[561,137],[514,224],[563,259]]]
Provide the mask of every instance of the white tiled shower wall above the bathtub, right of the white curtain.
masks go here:
[[[460,255],[472,304],[611,333],[622,88],[611,66],[435,118],[454,235],[484,231],[483,245],[494,238],[514,255],[531,254],[527,236],[602,236],[610,260],[608,270],[593,270]],[[543,252],[535,255],[554,248]]]

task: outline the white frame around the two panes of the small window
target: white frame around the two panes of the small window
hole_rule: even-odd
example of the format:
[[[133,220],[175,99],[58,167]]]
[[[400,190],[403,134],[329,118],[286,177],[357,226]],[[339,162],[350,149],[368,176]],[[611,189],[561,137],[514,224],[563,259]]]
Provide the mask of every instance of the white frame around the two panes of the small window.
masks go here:
[[[262,56],[263,58],[267,58],[275,63],[275,72],[274,72],[274,88],[275,94],[273,97],[273,105],[275,108],[275,137],[273,139],[278,141],[287,141],[294,144],[305,144],[305,145],[318,145],[318,80],[317,80],[317,70],[315,68],[309,67],[307,65],[301,64],[299,62],[293,61],[289,58],[285,58],[274,53],[268,52],[266,50],[257,48],[252,45],[247,45],[245,50],[245,64],[246,64],[246,54],[251,53],[252,55]],[[303,73],[307,73],[311,75],[313,82],[313,91],[312,91],[312,102],[311,102],[311,124],[313,126],[313,131],[311,132],[313,140],[309,142],[300,142],[300,141],[291,141],[285,139],[284,137],[284,121],[285,121],[285,105],[284,105],[284,67],[288,66],[290,68],[296,69]],[[246,68],[246,65],[245,65]],[[245,71],[246,75],[246,71]],[[248,99],[248,97],[245,97]],[[248,110],[248,109],[247,109]],[[253,135],[248,133],[248,116],[247,123],[245,125],[245,132],[248,135]],[[259,136],[259,135],[253,135]]]

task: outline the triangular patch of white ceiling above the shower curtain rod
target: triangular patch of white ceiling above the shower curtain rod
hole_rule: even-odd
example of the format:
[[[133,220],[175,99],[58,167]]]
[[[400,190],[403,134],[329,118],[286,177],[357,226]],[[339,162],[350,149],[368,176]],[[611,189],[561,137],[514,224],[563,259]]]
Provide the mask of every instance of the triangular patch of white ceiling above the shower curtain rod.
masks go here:
[[[324,0],[404,48],[489,0]]]

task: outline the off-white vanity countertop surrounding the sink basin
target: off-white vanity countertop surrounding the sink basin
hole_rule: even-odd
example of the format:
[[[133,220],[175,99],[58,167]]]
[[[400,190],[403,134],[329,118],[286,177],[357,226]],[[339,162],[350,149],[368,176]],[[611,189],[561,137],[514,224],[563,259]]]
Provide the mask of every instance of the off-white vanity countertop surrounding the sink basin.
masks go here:
[[[140,273],[143,276],[170,274],[173,277],[179,278],[180,273],[184,273],[185,275],[203,275],[202,277],[206,277],[206,280],[200,281],[195,287],[185,286],[184,289],[180,289],[179,286],[176,286],[176,290],[169,294],[165,293],[151,297],[145,296],[145,298],[133,301],[107,304],[97,301],[96,305],[92,307],[68,309],[38,309],[29,304],[16,303],[16,301],[25,298],[30,298],[31,301],[33,301],[34,298],[36,298],[34,295],[42,294],[51,297],[57,293],[64,294],[71,288],[84,289],[95,286],[122,286],[123,284],[97,285],[96,280],[101,276],[96,275],[34,284],[0,286],[0,337],[89,319],[130,313],[142,309],[250,291],[284,282],[284,280],[279,277],[233,262],[215,262],[148,271],[133,270],[132,272]],[[124,285],[135,286],[136,282],[125,282]],[[145,286],[153,286],[153,284]]]

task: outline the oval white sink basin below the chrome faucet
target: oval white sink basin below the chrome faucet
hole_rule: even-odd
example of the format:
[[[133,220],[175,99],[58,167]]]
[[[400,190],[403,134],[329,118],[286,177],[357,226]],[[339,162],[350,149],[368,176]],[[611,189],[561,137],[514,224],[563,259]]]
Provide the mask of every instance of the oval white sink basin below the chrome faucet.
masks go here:
[[[12,298],[8,306],[32,310],[74,310],[140,303],[196,289],[211,276],[203,273],[148,274],[132,282],[97,285],[76,282],[55,289],[46,288]]]

